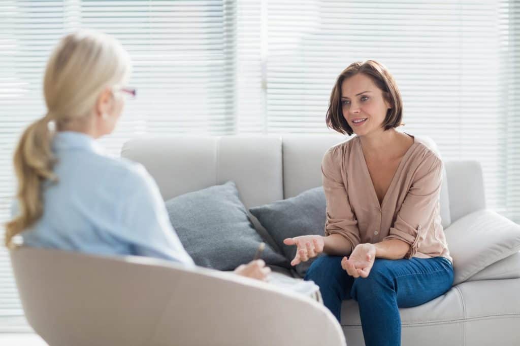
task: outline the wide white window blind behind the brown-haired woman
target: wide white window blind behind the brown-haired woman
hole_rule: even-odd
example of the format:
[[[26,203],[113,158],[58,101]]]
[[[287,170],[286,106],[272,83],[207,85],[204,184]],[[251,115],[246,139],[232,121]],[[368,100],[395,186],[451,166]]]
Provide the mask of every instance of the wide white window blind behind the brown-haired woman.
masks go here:
[[[504,8],[493,1],[269,2],[267,132],[323,132],[337,75],[386,65],[404,103],[403,131],[443,158],[483,164],[491,207],[505,211]]]

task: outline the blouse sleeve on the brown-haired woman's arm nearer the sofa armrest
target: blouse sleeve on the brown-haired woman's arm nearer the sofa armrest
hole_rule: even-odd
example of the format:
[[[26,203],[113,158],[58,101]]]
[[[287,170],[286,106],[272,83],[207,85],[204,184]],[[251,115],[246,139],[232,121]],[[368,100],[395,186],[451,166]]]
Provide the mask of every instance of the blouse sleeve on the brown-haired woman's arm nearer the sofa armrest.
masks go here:
[[[415,172],[413,183],[397,213],[394,227],[383,240],[399,239],[410,245],[405,258],[417,253],[428,225],[433,224],[443,180],[443,162],[428,153]]]

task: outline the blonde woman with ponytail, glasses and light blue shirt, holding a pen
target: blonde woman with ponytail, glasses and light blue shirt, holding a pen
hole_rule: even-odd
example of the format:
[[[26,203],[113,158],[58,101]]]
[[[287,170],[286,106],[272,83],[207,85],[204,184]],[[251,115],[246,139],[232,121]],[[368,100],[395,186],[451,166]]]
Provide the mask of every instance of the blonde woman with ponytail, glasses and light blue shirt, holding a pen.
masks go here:
[[[7,246],[20,234],[27,246],[194,266],[152,177],[96,142],[113,131],[124,95],[135,96],[126,86],[130,70],[127,52],[105,34],[79,31],[54,49],[44,77],[47,114],[25,129],[15,152],[19,212],[6,224]],[[259,280],[269,271],[262,260],[235,270]]]

